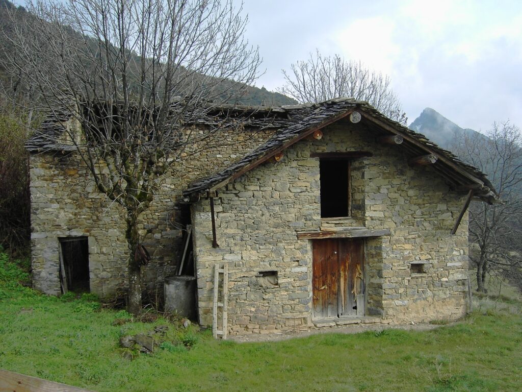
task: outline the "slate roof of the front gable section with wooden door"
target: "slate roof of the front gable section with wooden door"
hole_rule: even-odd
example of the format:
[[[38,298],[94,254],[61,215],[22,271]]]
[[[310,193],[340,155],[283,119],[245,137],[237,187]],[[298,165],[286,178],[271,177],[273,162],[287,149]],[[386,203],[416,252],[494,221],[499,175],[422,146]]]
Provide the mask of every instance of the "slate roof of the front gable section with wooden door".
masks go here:
[[[473,166],[465,164],[454,154],[438,147],[424,135],[414,132],[396,121],[390,120],[367,102],[356,101],[351,98],[337,98],[313,105],[293,105],[283,106],[281,108],[288,111],[290,118],[292,118],[293,112],[298,113],[298,116],[294,117],[292,124],[278,130],[269,140],[254,148],[250,153],[229,167],[212,176],[193,182],[183,192],[184,197],[188,197],[194,193],[204,193],[215,190],[212,188],[217,189],[224,186],[226,183],[232,181],[238,174],[248,171],[258,160],[264,159],[270,154],[275,154],[284,145],[291,144],[292,140],[299,140],[299,136],[303,133],[318,127],[321,128],[322,124],[328,123],[328,120],[335,119],[343,113],[357,110],[365,114],[366,118],[376,120],[379,124],[387,126],[388,132],[395,131],[396,134],[403,136],[405,141],[403,144],[397,146],[397,148],[406,147],[412,152],[418,152],[418,155],[433,153],[438,158],[442,158],[438,160],[434,166],[439,166],[440,170],[438,171],[440,171],[441,174],[444,173],[444,177],[452,179],[454,185],[457,183],[462,186],[473,186],[477,197],[485,201],[493,202],[493,200],[496,199],[494,188],[483,172]],[[377,124],[377,126],[379,125]],[[383,130],[386,131],[385,129]],[[441,167],[443,165],[446,167]]]

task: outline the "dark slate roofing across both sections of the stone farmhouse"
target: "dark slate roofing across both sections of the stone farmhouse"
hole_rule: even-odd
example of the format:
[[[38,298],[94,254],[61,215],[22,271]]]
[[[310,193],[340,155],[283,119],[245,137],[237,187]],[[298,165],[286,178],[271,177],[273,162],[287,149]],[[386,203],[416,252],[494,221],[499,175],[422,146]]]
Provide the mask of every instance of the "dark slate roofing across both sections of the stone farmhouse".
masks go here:
[[[397,148],[405,148],[412,156],[435,154],[437,162],[433,168],[450,181],[454,186],[473,188],[475,195],[485,201],[493,202],[496,194],[491,182],[477,168],[467,165],[451,152],[438,147],[424,135],[414,132],[396,121],[390,120],[373,106],[364,101],[351,98],[337,98],[315,104],[291,105],[282,107],[245,107],[221,105],[211,110],[193,113],[183,119],[185,125],[221,126],[223,121],[233,123],[240,120],[244,126],[255,129],[277,129],[276,133],[265,143],[255,147],[250,153],[231,164],[229,167],[203,179],[193,182],[184,192],[184,197],[195,193],[205,193],[218,189],[233,181],[243,172],[251,169],[260,160],[275,154],[281,148],[289,146],[306,133],[325,124],[335,122],[349,111],[357,110],[363,115],[363,120],[372,123],[374,128],[383,134],[398,134],[404,137],[404,143]],[[64,132],[65,123],[73,117],[70,110],[58,109],[44,120],[41,128],[31,137],[26,148],[31,153],[60,151],[72,152],[74,145],[59,142]],[[172,126],[179,126],[173,124]]]

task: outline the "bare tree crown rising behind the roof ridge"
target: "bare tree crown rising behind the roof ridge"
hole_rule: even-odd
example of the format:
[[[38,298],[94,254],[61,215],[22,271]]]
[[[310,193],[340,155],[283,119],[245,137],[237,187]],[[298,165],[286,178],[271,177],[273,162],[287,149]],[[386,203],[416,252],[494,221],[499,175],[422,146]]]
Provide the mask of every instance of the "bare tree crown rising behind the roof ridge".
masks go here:
[[[285,84],[279,92],[299,102],[321,102],[339,97],[367,101],[385,116],[406,125],[408,119],[391,88],[389,76],[372,72],[361,62],[346,61],[338,54],[310,58],[283,70]]]

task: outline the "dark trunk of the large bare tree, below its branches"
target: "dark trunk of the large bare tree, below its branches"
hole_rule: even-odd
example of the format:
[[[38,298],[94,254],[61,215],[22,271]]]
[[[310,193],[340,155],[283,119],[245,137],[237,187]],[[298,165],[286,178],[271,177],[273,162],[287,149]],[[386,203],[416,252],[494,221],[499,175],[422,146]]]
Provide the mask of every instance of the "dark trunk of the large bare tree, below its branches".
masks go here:
[[[136,248],[139,244],[138,214],[128,211],[126,222],[126,238],[129,247],[127,311],[136,316],[141,312],[141,261],[135,258]]]

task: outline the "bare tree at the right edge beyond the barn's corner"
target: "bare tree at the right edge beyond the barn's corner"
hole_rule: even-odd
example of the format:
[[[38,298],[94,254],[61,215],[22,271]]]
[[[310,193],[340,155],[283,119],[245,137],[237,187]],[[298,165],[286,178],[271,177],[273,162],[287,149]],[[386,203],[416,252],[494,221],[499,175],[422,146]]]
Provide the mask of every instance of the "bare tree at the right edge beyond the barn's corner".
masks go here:
[[[472,203],[469,237],[477,290],[487,292],[488,274],[501,273],[522,287],[522,133],[504,122],[484,135],[456,137],[453,151],[488,174],[499,204]],[[473,244],[476,250],[473,250]]]

